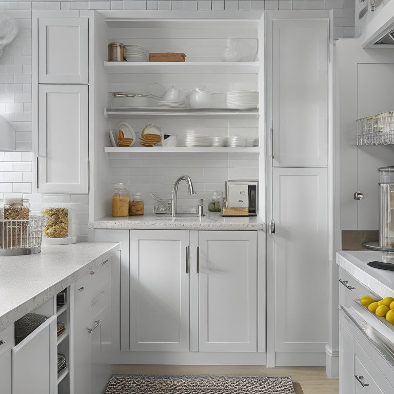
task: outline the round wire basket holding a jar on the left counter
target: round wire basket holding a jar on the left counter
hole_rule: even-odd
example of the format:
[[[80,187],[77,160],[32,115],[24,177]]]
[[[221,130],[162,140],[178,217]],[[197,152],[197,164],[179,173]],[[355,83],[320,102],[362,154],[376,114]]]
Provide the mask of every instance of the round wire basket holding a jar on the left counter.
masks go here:
[[[0,220],[0,255],[15,256],[41,252],[47,215],[29,215],[26,220]]]

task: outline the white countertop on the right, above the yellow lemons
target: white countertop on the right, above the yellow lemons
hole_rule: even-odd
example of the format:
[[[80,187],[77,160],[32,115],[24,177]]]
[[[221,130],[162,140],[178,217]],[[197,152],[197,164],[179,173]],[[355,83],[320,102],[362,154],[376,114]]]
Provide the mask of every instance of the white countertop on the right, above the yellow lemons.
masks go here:
[[[370,261],[392,262],[394,267],[394,254],[372,250],[337,252],[340,267],[380,297],[394,297],[394,271],[370,267]]]

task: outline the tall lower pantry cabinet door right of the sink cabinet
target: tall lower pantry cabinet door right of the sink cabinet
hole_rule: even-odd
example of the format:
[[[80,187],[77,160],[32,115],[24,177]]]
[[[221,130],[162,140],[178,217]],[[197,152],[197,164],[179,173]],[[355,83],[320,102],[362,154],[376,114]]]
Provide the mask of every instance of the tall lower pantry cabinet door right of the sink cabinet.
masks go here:
[[[267,316],[275,316],[277,365],[305,362],[297,352],[321,352],[309,356],[323,364],[328,341],[327,169],[273,168],[272,212],[275,231],[267,234],[267,266],[273,270],[274,301],[267,305]]]

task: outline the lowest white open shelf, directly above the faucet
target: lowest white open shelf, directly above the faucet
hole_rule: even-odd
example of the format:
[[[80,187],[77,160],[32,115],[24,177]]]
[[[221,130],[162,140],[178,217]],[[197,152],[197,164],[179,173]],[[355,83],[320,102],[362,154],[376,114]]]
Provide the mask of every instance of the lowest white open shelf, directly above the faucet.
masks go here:
[[[169,152],[169,153],[259,153],[260,148],[258,146],[253,147],[239,147],[229,148],[226,146],[214,147],[214,146],[175,146],[175,147],[164,147],[164,146],[105,146],[104,152]]]

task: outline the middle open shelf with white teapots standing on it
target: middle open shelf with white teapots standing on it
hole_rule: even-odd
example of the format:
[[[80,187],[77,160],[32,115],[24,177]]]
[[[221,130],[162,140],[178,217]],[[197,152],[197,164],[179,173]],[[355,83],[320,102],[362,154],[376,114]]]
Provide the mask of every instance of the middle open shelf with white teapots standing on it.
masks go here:
[[[164,108],[104,108],[105,117],[242,117],[243,119],[257,119],[259,117],[258,108],[187,108],[187,109],[164,109]]]

